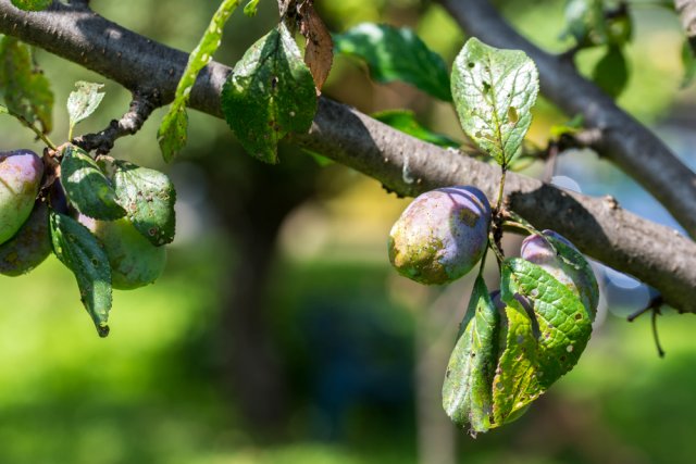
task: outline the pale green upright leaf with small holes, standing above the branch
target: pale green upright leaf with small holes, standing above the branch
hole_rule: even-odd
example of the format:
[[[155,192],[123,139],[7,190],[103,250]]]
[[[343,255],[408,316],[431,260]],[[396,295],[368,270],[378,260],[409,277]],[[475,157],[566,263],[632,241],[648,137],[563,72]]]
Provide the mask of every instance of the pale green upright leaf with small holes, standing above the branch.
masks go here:
[[[455,60],[452,96],[464,133],[500,165],[522,150],[539,90],[534,62],[471,38]]]

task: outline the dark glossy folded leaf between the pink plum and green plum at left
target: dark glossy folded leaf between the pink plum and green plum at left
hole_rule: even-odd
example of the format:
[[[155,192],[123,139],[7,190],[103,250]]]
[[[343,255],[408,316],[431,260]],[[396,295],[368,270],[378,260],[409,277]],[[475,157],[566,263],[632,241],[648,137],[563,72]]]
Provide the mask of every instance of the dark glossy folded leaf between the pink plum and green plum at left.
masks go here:
[[[83,149],[75,146],[65,148],[61,181],[70,202],[86,216],[113,221],[126,214],[111,183]]]

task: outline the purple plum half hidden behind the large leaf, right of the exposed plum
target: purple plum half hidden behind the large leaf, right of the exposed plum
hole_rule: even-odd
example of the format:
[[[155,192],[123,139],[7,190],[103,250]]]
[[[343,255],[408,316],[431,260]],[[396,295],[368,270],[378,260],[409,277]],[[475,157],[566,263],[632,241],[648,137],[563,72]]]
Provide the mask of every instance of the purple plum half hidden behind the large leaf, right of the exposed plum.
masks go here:
[[[589,263],[566,237],[554,230],[544,230],[542,234],[556,239],[561,243],[560,247],[567,247],[570,252],[563,253],[562,250],[558,250],[557,253],[546,238],[534,234],[522,242],[522,258],[538,265],[577,294],[594,319],[599,303],[599,288]]]

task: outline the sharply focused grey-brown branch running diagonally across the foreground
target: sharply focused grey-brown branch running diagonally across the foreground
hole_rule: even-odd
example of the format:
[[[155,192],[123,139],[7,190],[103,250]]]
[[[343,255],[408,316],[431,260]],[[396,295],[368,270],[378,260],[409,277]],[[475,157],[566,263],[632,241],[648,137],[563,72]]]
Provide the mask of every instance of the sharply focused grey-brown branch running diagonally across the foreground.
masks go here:
[[[58,3],[24,13],[0,0],[0,33],[15,36],[116,80],[130,90],[158,89],[174,97],[188,55],[85,10]],[[221,116],[220,90],[231,70],[210,63],[191,91],[190,106]],[[309,134],[298,145],[321,152],[403,196],[472,184],[494,198],[500,170],[395,130],[356,110],[321,98]],[[659,171],[659,170],[658,170]],[[621,209],[612,199],[566,192],[510,173],[506,195],[512,210],[537,228],[552,228],[583,252],[659,289],[681,311],[696,312],[696,243],[669,227]],[[696,211],[696,210],[692,210]]]

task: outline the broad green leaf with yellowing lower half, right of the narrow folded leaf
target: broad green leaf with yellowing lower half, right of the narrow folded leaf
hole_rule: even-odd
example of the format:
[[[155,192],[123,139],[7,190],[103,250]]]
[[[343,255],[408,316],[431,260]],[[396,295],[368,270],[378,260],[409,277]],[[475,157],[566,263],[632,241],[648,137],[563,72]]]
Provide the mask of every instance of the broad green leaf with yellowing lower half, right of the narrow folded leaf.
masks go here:
[[[568,373],[592,333],[591,315],[577,296],[525,260],[504,262],[500,292],[508,329],[493,381],[496,427]]]

